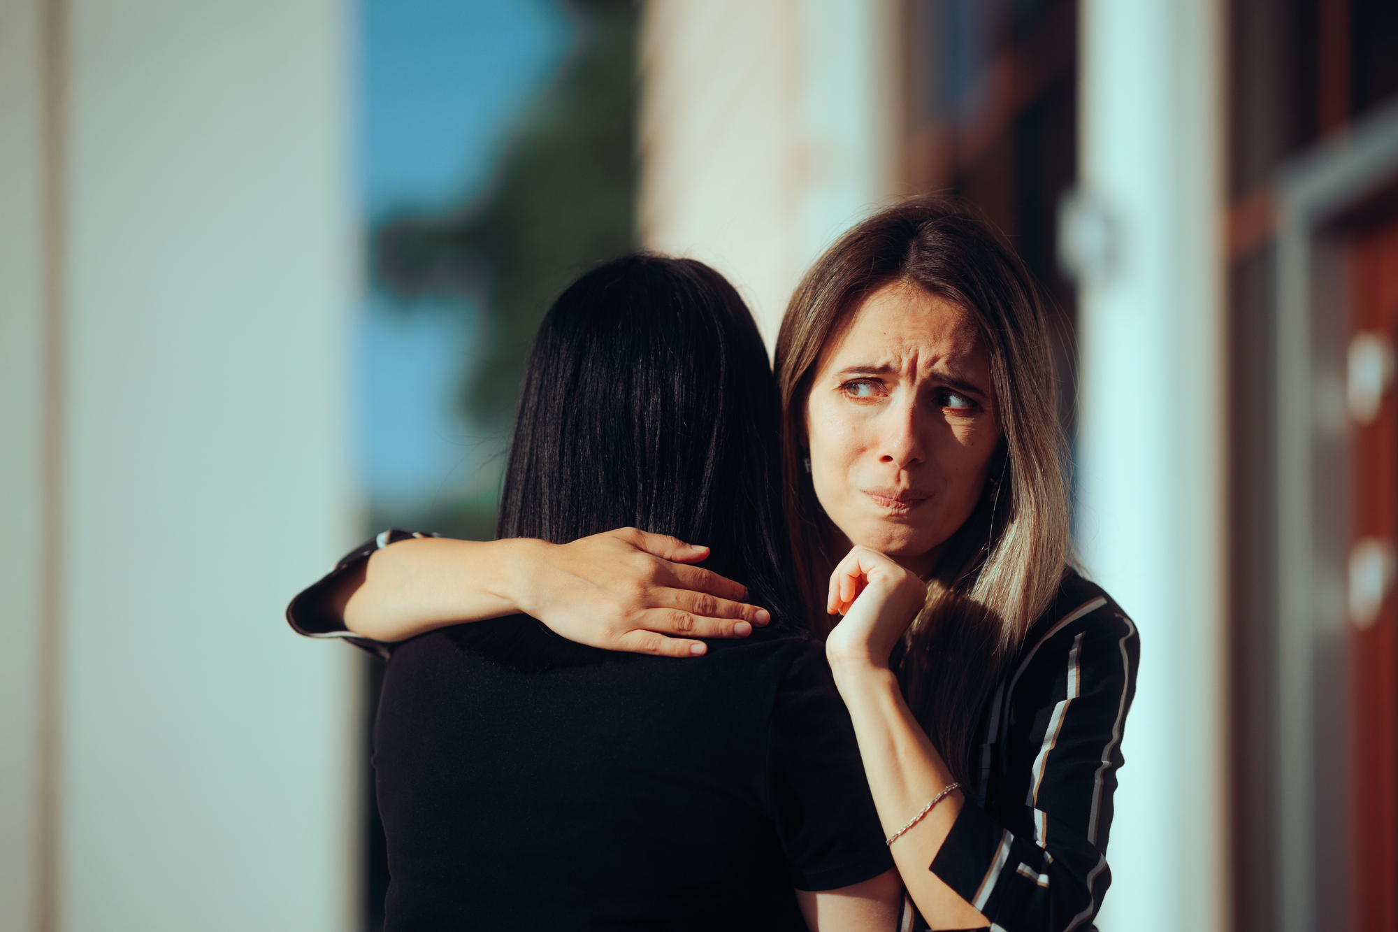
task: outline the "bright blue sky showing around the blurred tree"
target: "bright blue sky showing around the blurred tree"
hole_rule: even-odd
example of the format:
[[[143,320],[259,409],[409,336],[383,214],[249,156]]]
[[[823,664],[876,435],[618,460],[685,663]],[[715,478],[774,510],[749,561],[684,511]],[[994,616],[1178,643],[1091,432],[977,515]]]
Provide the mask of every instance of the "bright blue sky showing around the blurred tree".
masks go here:
[[[400,210],[468,203],[562,63],[555,0],[361,0],[358,181],[365,230]],[[404,521],[484,491],[503,438],[460,411],[475,351],[464,301],[366,294],[358,341],[358,472]]]

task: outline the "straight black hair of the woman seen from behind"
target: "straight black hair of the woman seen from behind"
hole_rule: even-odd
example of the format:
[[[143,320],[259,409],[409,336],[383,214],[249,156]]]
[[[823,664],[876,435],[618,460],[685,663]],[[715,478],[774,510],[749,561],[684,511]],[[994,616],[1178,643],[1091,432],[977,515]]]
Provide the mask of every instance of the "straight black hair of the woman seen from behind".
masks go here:
[[[496,537],[568,543],[633,526],[707,544],[703,565],[747,585],[773,627],[804,628],[780,434],[766,348],[733,285],[692,259],[608,262],[559,295],[534,337]]]

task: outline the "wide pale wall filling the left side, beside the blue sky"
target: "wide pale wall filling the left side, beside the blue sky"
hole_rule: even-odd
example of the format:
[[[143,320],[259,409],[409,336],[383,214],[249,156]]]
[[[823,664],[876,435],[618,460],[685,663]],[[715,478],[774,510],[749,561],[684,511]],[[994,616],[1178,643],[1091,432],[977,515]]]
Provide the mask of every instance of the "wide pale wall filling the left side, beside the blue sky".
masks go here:
[[[354,659],[291,635],[281,610],[352,530],[345,10],[70,0],[50,7],[66,59],[43,104],[42,8],[0,0],[0,424],[21,438],[0,458],[17,516],[0,624],[21,672],[42,672],[31,645],[56,634],[56,809],[20,840],[24,803],[8,782],[0,795],[0,865],[20,865],[0,879],[0,929],[45,915],[71,932],[343,931]],[[60,151],[43,153],[55,122]],[[56,172],[38,207],[35,153]],[[62,285],[48,304],[34,281],[46,207],[59,236],[42,260]],[[45,320],[59,325],[48,368]],[[60,518],[48,614],[45,502]],[[31,774],[45,772],[39,679],[0,676],[6,767]]]

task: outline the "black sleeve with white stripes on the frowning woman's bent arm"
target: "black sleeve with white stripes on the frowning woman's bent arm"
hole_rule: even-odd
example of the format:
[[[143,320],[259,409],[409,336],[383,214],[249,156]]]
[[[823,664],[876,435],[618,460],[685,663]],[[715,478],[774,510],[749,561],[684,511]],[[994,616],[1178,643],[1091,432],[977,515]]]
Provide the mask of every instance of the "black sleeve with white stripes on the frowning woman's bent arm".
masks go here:
[[[987,716],[977,798],[931,870],[993,929],[1086,929],[1111,883],[1111,798],[1139,637],[1096,591],[1026,645]]]

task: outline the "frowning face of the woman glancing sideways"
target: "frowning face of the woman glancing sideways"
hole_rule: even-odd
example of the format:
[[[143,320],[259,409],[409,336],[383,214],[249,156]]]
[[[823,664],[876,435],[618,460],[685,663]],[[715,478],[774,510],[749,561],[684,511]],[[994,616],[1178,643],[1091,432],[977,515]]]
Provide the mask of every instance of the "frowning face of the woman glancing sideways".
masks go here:
[[[874,292],[816,362],[805,428],[835,526],[925,574],[974,509],[1000,441],[974,320],[905,283]]]

